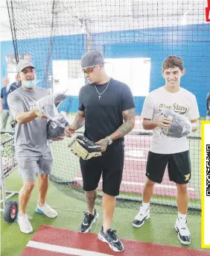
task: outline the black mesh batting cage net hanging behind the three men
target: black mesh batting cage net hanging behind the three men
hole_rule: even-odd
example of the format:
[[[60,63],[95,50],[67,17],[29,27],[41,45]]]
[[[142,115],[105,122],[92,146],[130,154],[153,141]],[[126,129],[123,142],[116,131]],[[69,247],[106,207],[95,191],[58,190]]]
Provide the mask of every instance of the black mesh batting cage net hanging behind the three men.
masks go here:
[[[68,90],[60,110],[66,111],[71,121],[77,113],[80,87],[86,84],[80,69],[80,58],[86,51],[101,51],[107,74],[130,86],[136,104],[136,127],[125,137],[124,174],[117,200],[122,207],[139,207],[136,202],[141,202],[152,138],[152,131],[142,128],[141,109],[145,96],[164,85],[162,61],[168,55],[176,54],[184,60],[186,73],[181,86],[196,96],[200,120],[206,117],[210,80],[206,5],[204,0],[7,1],[16,61],[33,61],[38,86],[54,93]],[[171,107],[185,113],[185,107],[179,104]],[[83,128],[77,132],[82,133]],[[51,181],[64,193],[84,199],[79,160],[69,152],[68,142],[65,138],[51,144]],[[189,207],[196,213],[200,211],[201,195],[200,130],[190,134],[188,143]],[[186,180],[189,178],[186,175]],[[173,211],[176,193],[176,184],[169,181],[166,170],[162,184],[155,185],[153,207],[162,205],[161,209]]]

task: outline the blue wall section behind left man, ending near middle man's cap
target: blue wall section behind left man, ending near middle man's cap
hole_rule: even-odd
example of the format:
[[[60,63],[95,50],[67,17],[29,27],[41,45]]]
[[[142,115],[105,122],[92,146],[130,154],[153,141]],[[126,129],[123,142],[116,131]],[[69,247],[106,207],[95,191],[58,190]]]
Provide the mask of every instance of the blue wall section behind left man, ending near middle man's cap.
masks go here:
[[[51,47],[52,45],[52,47]],[[17,41],[18,54],[31,54],[39,86],[51,87],[48,74],[52,73],[52,60],[74,60],[86,52],[86,36],[73,35],[63,37],[36,38]],[[51,49],[51,54],[49,54]],[[14,54],[11,41],[1,42],[1,77],[7,76],[6,54]],[[49,57],[49,58],[48,58]],[[46,69],[48,67],[48,69]],[[46,75],[46,73],[48,73]]]

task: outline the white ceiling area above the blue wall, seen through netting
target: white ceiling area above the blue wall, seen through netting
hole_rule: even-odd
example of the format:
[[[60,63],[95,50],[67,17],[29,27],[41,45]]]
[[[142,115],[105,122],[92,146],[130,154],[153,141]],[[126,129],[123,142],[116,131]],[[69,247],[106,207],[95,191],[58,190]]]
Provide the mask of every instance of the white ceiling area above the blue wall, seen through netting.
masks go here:
[[[1,38],[12,40],[1,0]],[[54,35],[205,23],[207,0],[66,0],[54,6]],[[51,35],[52,1],[13,1],[17,39]]]

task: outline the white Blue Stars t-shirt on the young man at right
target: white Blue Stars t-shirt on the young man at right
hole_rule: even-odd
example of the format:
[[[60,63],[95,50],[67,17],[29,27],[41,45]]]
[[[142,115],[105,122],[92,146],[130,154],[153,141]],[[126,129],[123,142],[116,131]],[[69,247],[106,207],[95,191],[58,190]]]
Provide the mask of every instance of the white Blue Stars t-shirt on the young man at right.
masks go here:
[[[199,118],[197,100],[194,94],[180,88],[177,93],[169,93],[165,87],[153,90],[144,100],[141,116],[147,119],[159,119],[165,108],[186,116],[190,120]],[[161,128],[153,129],[150,152],[158,154],[174,154],[189,149],[186,137],[173,138],[161,133]]]

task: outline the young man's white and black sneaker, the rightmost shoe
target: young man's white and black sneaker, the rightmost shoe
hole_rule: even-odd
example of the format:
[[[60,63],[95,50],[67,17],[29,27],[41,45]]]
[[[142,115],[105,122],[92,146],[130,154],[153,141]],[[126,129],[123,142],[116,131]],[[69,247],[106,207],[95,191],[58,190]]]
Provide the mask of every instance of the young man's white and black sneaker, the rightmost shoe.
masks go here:
[[[187,227],[187,219],[177,217],[174,228],[176,229],[177,237],[180,243],[183,245],[189,245],[191,243],[191,233]]]

